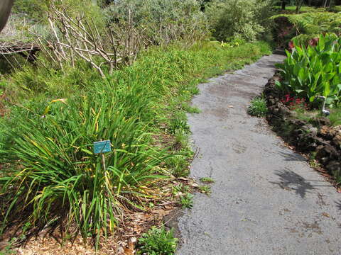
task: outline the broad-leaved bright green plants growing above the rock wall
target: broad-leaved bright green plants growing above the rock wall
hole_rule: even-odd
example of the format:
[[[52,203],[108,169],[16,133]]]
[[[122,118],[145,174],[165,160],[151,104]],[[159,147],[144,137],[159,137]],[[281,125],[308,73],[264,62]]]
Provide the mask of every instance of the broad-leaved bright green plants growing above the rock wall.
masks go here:
[[[279,89],[293,92],[310,103],[325,96],[327,103],[338,103],[341,90],[341,40],[336,35],[320,35],[318,45],[304,47],[297,40],[292,53],[286,52],[283,64],[277,64],[283,81]]]

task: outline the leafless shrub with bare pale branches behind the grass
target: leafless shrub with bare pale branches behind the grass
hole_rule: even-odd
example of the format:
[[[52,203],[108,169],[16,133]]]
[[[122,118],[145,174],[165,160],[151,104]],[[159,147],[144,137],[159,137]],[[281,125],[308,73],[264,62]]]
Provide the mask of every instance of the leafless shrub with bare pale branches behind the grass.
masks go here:
[[[134,60],[144,45],[143,31],[137,31],[131,20],[99,31],[92,19],[88,21],[84,15],[72,17],[65,8],[58,8],[52,3],[48,23],[52,38],[43,38],[34,30],[31,33],[36,35],[36,42],[45,55],[61,69],[64,64],[75,67],[75,61],[80,58],[104,77],[104,66],[112,73],[119,63],[129,64]]]

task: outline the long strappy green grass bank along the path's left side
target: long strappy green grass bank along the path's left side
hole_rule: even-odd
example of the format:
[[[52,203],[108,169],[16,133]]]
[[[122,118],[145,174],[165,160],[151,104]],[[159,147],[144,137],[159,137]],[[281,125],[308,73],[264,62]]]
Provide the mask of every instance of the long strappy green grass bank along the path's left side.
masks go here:
[[[183,106],[199,92],[197,84],[269,52],[264,42],[155,47],[105,81],[84,66],[68,74],[31,67],[16,72],[8,83],[21,95],[20,105],[14,102],[19,106],[0,122],[2,229],[28,210],[24,220],[33,227],[58,221],[66,232],[76,226],[97,241],[113,232],[126,210],[145,210],[158,196],[158,181],[188,174],[193,154]],[[49,103],[60,96],[63,101]],[[164,132],[180,149],[152,142]],[[92,152],[99,140],[112,142],[105,168]]]

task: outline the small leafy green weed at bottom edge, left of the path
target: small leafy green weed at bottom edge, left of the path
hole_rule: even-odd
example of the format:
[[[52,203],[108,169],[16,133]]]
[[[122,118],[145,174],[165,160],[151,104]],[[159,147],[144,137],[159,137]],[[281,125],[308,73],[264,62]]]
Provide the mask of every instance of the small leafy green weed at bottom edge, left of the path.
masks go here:
[[[175,253],[178,239],[174,237],[173,230],[167,231],[165,227],[152,227],[139,239],[137,254],[171,255]]]

